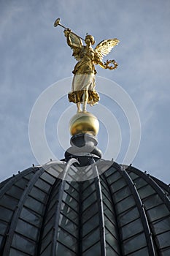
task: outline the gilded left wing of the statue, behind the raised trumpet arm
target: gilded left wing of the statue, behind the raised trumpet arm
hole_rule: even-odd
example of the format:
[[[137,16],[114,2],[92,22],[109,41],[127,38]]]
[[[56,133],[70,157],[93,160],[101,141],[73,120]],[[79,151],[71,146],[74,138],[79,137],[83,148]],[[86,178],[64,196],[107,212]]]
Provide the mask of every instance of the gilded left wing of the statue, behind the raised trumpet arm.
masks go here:
[[[79,61],[80,60],[80,49],[82,48],[82,39],[77,37],[76,34],[72,33],[72,31],[64,30],[65,36],[67,37],[68,45],[72,48],[74,58]]]

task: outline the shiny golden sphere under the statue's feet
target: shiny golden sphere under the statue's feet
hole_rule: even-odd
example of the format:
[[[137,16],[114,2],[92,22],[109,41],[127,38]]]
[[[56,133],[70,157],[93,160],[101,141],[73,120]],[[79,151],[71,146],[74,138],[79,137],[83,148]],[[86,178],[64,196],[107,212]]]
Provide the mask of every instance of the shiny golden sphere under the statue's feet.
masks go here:
[[[88,133],[96,136],[99,130],[99,122],[96,116],[89,112],[80,112],[72,117],[69,122],[71,135]]]

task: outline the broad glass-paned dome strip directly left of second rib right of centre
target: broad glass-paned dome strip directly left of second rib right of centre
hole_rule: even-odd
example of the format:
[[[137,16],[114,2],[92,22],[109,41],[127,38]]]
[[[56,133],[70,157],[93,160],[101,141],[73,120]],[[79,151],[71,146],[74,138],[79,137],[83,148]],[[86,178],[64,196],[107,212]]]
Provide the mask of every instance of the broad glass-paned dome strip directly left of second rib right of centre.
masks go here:
[[[122,255],[149,255],[139,207],[134,200],[120,165],[113,163],[105,175],[115,202],[115,214],[119,223]]]

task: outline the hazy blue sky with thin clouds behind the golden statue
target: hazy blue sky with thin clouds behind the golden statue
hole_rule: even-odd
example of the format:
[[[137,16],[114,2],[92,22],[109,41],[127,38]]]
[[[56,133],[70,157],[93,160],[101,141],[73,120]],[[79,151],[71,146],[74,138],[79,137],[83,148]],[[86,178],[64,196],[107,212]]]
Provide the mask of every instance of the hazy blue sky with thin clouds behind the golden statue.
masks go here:
[[[37,164],[28,138],[31,109],[42,91],[72,75],[72,51],[63,29],[53,27],[58,17],[81,37],[93,34],[96,43],[120,39],[108,57],[116,59],[119,67],[113,72],[96,67],[98,75],[122,86],[139,112],[142,138],[133,165],[169,184],[169,0],[0,1],[0,180]],[[47,140],[58,159],[64,150],[58,147],[56,122],[65,108],[69,103],[63,97],[46,126]],[[116,104],[112,112],[123,133],[117,158],[122,163],[128,122]]]

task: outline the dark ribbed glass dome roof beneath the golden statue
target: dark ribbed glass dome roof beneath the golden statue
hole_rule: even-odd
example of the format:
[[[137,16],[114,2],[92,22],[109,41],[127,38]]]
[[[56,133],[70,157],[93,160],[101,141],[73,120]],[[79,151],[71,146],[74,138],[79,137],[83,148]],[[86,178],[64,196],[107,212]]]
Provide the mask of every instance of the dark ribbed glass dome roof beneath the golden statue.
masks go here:
[[[169,186],[104,159],[84,181],[52,166],[1,183],[0,255],[170,255]]]

